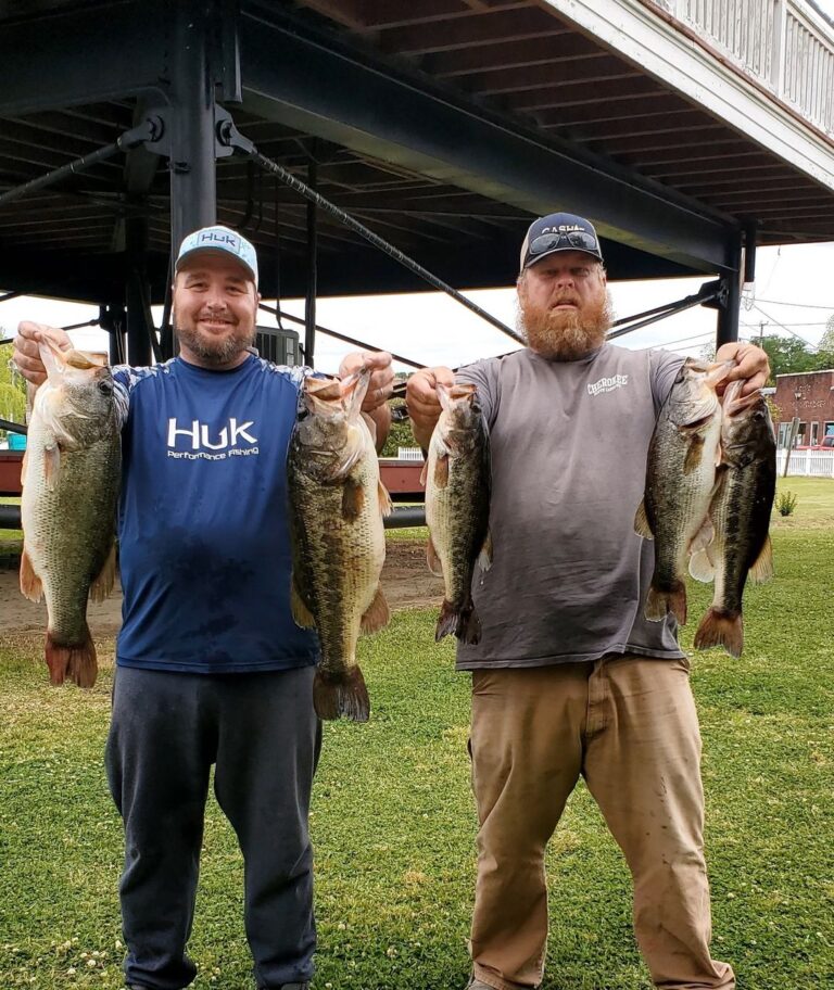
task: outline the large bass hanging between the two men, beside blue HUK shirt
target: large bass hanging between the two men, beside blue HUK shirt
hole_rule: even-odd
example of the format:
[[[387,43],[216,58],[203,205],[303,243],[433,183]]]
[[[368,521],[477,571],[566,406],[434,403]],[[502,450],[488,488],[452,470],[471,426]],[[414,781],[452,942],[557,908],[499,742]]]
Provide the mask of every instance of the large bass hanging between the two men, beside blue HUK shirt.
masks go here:
[[[320,719],[367,722],[370,703],[356,664],[359,632],[390,618],[379,586],[386,559],[382,516],[391,499],[379,480],[362,416],[366,369],[343,382],[308,378],[288,461],[293,540],[292,613],[315,627],[321,660],[313,685]]]

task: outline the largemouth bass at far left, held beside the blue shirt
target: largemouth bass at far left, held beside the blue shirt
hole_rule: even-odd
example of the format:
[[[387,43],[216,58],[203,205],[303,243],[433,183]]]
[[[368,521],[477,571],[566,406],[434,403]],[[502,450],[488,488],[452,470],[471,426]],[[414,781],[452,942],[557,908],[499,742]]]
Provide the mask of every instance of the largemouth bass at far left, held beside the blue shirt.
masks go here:
[[[115,580],[122,442],[110,368],[40,344],[48,380],[35,395],[23,466],[21,591],[47,600],[50,681],[96,683],[87,598]]]

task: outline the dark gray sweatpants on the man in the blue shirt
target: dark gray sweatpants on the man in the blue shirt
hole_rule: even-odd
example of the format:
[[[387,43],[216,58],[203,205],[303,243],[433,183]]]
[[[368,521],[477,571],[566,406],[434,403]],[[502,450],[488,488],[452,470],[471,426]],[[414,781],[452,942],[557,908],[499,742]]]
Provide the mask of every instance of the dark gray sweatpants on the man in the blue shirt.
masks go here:
[[[119,884],[128,983],[179,990],[197,896],[208,775],[245,864],[258,987],[313,975],[309,792],[321,731],[315,668],[179,674],[118,668],[106,748],[125,825]]]

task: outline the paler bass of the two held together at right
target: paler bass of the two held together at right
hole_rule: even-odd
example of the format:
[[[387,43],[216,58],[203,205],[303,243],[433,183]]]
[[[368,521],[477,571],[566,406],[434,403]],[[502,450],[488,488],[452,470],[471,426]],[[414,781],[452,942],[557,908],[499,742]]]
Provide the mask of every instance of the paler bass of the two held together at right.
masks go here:
[[[655,571],[645,605],[645,617],[653,622],[672,612],[681,625],[686,623],[688,557],[712,538],[708,510],[721,440],[716,386],[732,367],[732,361],[706,365],[687,358],[652,436],[634,530],[655,541]]]

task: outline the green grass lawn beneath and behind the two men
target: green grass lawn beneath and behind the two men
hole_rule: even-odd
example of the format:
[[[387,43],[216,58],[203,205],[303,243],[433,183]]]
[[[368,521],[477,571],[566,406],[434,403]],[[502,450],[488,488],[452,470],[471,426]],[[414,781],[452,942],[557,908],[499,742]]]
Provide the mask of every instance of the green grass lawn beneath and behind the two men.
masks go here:
[[[740,990],[834,986],[834,482],[787,479],[776,580],[748,588],[741,660],[694,661],[704,735],[715,954]],[[707,586],[692,588],[699,615]],[[433,611],[362,644],[367,725],[327,724],[314,791],[315,990],[466,982],[475,811],[468,677]],[[684,631],[691,647],[697,622]],[[106,656],[109,644],[101,644]],[[0,988],[119,988],[119,822],[101,757],[112,667],[91,693],[52,689],[40,637],[0,639]],[[543,990],[647,990],[630,881],[586,790],[548,853]],[[250,990],[242,870],[212,801],[191,940],[198,990]]]

